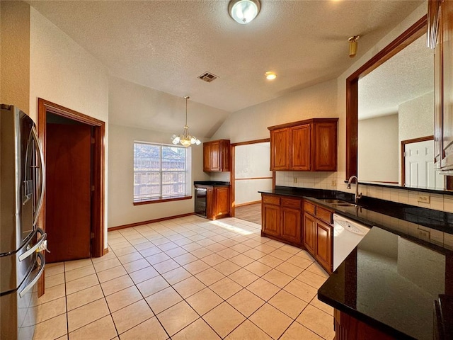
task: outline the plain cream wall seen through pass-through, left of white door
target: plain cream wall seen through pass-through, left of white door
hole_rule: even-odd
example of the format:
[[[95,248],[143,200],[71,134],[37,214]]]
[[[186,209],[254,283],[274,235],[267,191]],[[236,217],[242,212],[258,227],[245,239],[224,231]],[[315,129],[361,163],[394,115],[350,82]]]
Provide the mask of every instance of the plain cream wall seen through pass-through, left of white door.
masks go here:
[[[359,120],[358,177],[398,183],[398,114]]]

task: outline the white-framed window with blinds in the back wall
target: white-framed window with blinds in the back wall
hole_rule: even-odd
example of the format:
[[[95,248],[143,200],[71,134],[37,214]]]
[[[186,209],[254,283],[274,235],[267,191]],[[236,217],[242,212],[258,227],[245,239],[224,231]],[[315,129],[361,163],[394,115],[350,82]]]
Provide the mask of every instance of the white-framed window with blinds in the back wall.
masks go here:
[[[190,196],[190,147],[134,142],[134,203]]]

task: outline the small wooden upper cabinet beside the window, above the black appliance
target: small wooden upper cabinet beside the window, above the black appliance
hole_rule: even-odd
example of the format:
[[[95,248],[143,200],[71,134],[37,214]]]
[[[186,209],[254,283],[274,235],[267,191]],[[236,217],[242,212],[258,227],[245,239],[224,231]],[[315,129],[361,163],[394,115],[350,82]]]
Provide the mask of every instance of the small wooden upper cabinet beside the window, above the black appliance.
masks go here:
[[[203,143],[203,171],[230,171],[229,157],[229,140]]]

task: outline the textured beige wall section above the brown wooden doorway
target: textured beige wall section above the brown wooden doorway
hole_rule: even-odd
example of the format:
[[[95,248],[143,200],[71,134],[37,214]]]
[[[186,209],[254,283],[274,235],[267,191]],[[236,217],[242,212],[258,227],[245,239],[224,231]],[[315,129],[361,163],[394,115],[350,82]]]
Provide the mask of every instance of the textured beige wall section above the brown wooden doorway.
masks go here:
[[[108,69],[30,8],[30,115],[38,98],[108,123]]]

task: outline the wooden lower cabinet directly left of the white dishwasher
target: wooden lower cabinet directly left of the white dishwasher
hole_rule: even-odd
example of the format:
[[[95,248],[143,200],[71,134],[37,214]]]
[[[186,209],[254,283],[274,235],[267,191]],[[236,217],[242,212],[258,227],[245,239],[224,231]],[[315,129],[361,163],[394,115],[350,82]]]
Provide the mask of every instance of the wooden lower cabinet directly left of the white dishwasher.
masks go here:
[[[328,273],[333,271],[332,212],[313,203],[304,205],[304,246]]]

